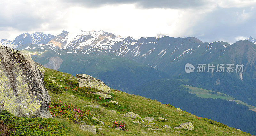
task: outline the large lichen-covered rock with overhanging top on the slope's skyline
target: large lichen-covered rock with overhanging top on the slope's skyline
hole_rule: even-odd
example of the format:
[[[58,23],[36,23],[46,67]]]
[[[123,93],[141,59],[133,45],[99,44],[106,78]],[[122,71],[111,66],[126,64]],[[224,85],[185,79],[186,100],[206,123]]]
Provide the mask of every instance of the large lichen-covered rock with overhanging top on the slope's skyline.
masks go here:
[[[103,92],[109,94],[110,91],[110,87],[108,87],[107,85],[104,84],[104,82],[102,82],[99,79],[96,79],[92,76],[86,75],[86,74],[76,74],[78,83],[79,83],[79,87],[91,87],[91,88],[96,88],[99,90],[102,90]]]

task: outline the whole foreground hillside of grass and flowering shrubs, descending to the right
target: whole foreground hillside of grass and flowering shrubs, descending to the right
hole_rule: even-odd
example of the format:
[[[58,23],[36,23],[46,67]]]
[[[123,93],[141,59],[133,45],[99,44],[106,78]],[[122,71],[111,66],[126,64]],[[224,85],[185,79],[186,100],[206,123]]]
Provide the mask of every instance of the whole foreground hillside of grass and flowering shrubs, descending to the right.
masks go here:
[[[54,122],[53,124],[57,125],[58,123],[61,123],[59,124],[60,126],[54,130],[54,133],[53,130],[49,130],[52,132],[51,135],[60,134],[58,131],[61,131],[62,135],[91,135],[90,133],[79,129],[79,124],[84,124],[83,122],[80,122],[80,120],[83,120],[85,124],[88,125],[97,125],[97,135],[177,135],[178,133],[175,131],[182,132],[180,135],[249,135],[248,133],[228,127],[216,121],[197,117],[185,111],[179,111],[171,105],[162,104],[156,100],[147,99],[141,96],[130,95],[119,90],[111,90],[113,93],[110,95],[113,97],[110,99],[103,99],[98,97],[99,95],[91,94],[92,92],[100,90],[89,87],[77,87],[77,80],[72,75],[51,69],[45,70],[44,79],[46,88],[51,97],[50,112],[52,113],[53,119],[38,119],[35,125],[42,121]],[[56,81],[56,83],[62,87],[58,87],[55,83],[52,83],[52,81],[47,80],[49,78]],[[58,91],[62,93],[58,93]],[[116,101],[119,104],[109,104],[108,101],[110,100]],[[98,106],[98,108],[85,107],[85,105]],[[82,112],[81,114],[78,114],[78,118],[73,116],[74,111],[76,110],[80,111],[80,113]],[[108,110],[115,110],[117,113],[112,113]],[[147,123],[148,121],[145,119],[132,119],[122,116],[123,113],[129,111],[138,114],[141,118],[153,117],[153,122],[155,124]],[[4,115],[6,115],[6,113],[2,111],[0,113],[1,121],[7,117]],[[87,116],[89,119],[86,121],[83,115]],[[99,121],[93,120],[92,116],[103,121],[104,125]],[[168,121],[159,121],[158,117],[166,118]],[[140,124],[132,123],[132,121],[136,120],[140,123],[142,123],[143,120],[144,122],[142,124],[151,125],[151,127],[143,127]],[[126,131],[113,128],[112,124],[114,121],[123,121],[126,124]],[[180,123],[185,122],[192,122],[195,129],[190,131],[187,131],[186,129],[173,129],[173,127],[178,127]],[[24,127],[19,126],[20,123],[11,125],[13,125],[12,128],[16,129],[11,129],[10,133],[25,129]],[[44,126],[44,123],[41,123],[41,125]],[[164,125],[169,125],[172,128],[163,128],[162,126]],[[33,130],[34,132],[43,134],[44,132],[42,131],[46,128],[48,129],[49,126],[43,128],[35,127]],[[148,128],[153,128],[153,130],[148,130]],[[155,128],[159,129],[155,130]]]

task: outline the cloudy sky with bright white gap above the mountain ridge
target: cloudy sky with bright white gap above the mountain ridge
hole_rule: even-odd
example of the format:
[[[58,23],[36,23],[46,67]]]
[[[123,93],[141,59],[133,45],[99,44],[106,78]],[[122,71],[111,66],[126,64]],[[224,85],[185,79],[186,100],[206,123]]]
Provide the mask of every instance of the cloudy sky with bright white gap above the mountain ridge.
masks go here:
[[[256,38],[256,0],[1,0],[0,39],[104,30],[122,37]]]

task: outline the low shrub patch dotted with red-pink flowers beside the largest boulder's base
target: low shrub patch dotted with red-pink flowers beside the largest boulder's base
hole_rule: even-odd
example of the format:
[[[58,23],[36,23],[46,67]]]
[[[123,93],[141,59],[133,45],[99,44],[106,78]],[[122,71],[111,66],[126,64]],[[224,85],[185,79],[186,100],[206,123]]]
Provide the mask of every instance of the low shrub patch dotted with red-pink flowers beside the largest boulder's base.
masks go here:
[[[76,106],[71,104],[64,104],[50,102],[49,110],[52,117],[64,118],[75,123],[80,123],[81,120],[86,121],[86,117],[91,118],[92,114],[87,110],[77,109]]]

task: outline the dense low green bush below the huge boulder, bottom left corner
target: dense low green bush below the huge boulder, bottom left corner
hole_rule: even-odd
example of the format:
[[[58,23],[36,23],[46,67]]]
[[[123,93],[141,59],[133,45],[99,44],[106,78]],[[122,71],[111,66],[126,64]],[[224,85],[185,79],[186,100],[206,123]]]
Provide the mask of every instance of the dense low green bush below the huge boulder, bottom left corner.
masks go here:
[[[67,129],[53,119],[16,117],[8,111],[0,112],[0,135],[68,135]]]

